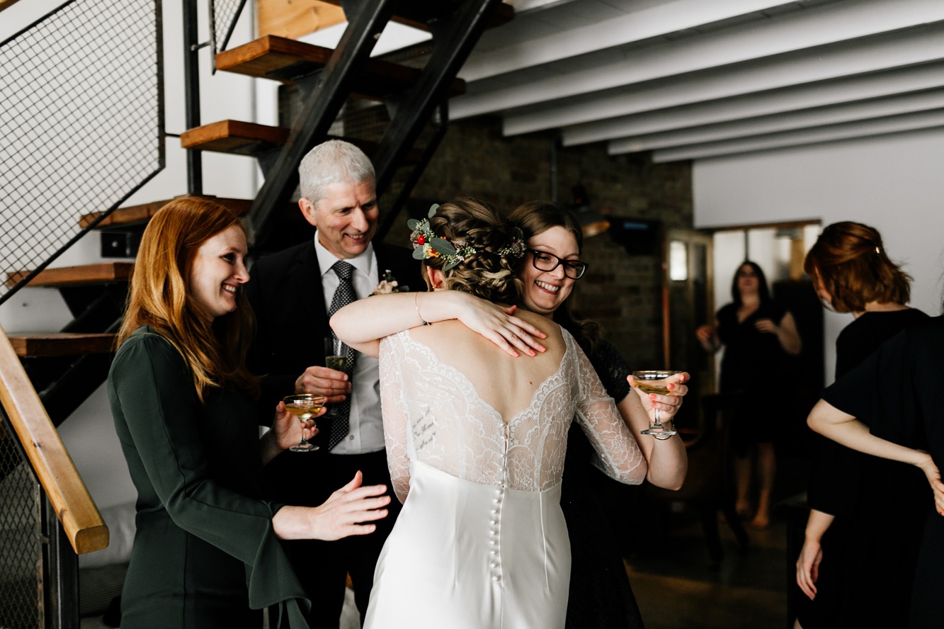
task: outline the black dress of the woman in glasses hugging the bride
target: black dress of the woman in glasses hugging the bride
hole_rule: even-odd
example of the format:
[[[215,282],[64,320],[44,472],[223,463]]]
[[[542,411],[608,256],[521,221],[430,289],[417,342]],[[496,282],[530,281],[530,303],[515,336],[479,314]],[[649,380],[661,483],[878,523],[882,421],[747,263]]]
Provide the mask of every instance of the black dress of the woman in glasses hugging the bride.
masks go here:
[[[631,387],[631,373],[612,344],[602,341],[590,362],[607,394],[618,404]],[[570,538],[570,592],[565,629],[642,629],[639,607],[609,521],[594,498],[606,479],[591,465],[593,447],[577,422],[567,433],[561,509]]]

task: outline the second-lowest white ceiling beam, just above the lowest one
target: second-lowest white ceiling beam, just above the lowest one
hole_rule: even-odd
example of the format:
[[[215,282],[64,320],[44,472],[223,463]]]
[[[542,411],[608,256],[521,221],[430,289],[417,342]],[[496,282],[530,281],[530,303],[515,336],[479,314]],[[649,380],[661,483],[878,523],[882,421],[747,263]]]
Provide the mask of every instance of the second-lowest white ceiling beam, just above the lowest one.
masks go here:
[[[847,103],[834,107],[791,111],[779,115],[763,116],[718,125],[683,128],[663,133],[619,138],[608,144],[607,151],[610,155],[639,153],[642,151],[669,148],[671,146],[707,144],[709,142],[748,138],[803,128],[829,127],[844,123],[874,118],[888,118],[890,116],[928,110],[944,110],[944,89],[902,94],[859,103]]]

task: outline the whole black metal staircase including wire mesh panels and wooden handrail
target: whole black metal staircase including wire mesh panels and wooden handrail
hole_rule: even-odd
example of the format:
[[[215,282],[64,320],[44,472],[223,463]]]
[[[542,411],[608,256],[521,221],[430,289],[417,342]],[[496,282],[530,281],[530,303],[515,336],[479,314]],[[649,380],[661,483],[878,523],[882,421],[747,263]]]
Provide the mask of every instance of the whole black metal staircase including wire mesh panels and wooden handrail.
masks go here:
[[[180,142],[188,149],[188,181],[180,192],[202,194],[202,151],[255,158],[265,176],[259,194],[215,200],[247,218],[260,250],[285,246],[285,235],[299,231],[299,212],[289,203],[298,163],[329,137],[342,137],[372,157],[378,193],[393,198],[384,207],[382,239],[446,132],[447,99],[464,92],[464,82],[456,77],[464,60],[485,27],[513,15],[499,0],[345,0],[338,4],[349,24],[333,50],[278,37],[222,50],[246,3],[209,1],[211,42],[199,42],[198,0],[183,0],[188,128]],[[0,2],[0,10],[10,4]],[[0,76],[5,103],[0,110],[5,139],[0,144],[5,164],[0,170],[0,303],[27,285],[42,287],[59,291],[72,316],[59,331],[8,336],[8,356],[19,358],[27,388],[31,383],[39,392],[37,410],[44,407],[48,414],[39,425],[51,435],[56,433],[52,427],[107,377],[133,263],[56,268],[50,263],[89,230],[100,233],[104,257],[133,258],[148,219],[169,200],[119,208],[163,169],[164,143],[173,136],[164,128],[160,16],[161,0],[66,0],[0,42],[0,64],[15,69]],[[371,57],[391,20],[430,31],[432,42],[423,44],[421,62]],[[295,94],[293,119],[283,127],[235,120],[201,124],[196,59],[205,45],[212,46],[214,72],[281,82],[286,93]],[[54,76],[48,75],[50,69]],[[50,89],[70,97],[51,98]],[[351,124],[364,115],[375,121],[369,132]],[[0,408],[0,495],[5,497],[0,511],[5,520],[35,520],[38,533],[28,538],[44,541],[4,537],[7,554],[0,568],[15,561],[34,568],[39,562],[42,569],[22,587],[17,582],[15,592],[3,590],[0,624],[77,627],[74,549],[94,550],[102,542],[96,538],[85,550],[76,543],[70,547],[57,522],[62,514],[45,500],[45,482],[26,463],[30,450],[42,451],[43,444],[27,443],[22,435],[18,441],[7,411],[5,403]],[[8,495],[5,482],[22,485],[23,491]],[[97,516],[92,503],[83,520],[92,522],[88,530],[102,529]],[[22,605],[11,606],[14,598]]]

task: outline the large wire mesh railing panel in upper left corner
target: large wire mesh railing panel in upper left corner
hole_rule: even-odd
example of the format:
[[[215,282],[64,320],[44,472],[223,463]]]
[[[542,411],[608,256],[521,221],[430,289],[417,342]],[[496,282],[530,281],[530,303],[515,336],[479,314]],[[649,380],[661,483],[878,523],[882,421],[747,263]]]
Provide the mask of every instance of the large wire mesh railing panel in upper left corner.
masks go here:
[[[73,0],[0,42],[0,302],[163,168],[161,52],[160,0]]]

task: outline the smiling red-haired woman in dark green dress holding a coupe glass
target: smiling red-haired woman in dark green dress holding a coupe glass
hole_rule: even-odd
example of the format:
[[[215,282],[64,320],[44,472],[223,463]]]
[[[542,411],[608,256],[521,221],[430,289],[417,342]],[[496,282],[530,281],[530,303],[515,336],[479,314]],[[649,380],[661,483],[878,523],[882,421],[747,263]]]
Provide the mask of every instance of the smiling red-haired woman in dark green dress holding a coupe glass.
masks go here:
[[[171,201],[144,229],[108,380],[138,490],[125,629],[256,629],[268,605],[306,627],[279,539],[365,535],[386,515],[384,486],[360,487],[360,474],[318,507],[260,499],[262,466],[303,429],[279,402],[259,436],[245,254],[239,219],[208,200]]]

